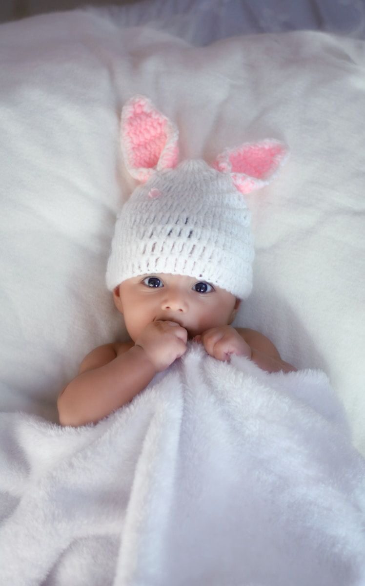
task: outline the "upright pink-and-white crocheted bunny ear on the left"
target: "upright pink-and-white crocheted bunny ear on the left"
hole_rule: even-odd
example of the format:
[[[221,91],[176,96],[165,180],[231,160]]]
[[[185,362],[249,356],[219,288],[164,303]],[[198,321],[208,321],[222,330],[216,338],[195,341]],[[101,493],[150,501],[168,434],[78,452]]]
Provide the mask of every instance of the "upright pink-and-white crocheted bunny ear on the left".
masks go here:
[[[178,163],[178,128],[145,96],[134,96],[121,115],[121,146],[125,165],[144,183],[159,169]]]

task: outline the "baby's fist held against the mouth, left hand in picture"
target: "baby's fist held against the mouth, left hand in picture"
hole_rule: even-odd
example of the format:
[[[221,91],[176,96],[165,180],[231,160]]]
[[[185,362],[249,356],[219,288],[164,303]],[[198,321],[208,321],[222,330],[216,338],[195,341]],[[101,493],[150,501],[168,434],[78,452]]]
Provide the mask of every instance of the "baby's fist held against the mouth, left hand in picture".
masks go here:
[[[176,322],[149,323],[135,340],[144,349],[156,372],[162,372],[186,352],[187,331]]]

